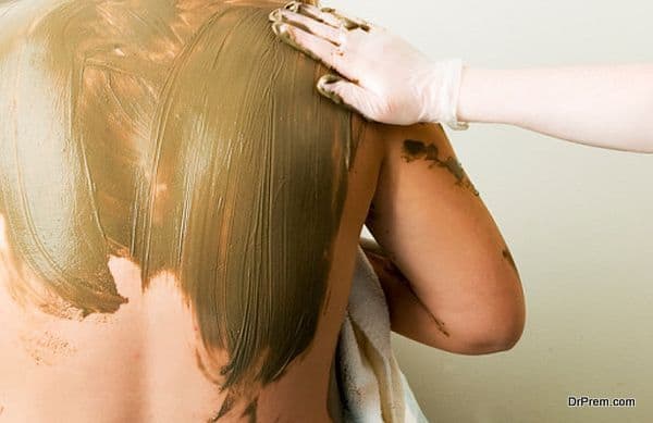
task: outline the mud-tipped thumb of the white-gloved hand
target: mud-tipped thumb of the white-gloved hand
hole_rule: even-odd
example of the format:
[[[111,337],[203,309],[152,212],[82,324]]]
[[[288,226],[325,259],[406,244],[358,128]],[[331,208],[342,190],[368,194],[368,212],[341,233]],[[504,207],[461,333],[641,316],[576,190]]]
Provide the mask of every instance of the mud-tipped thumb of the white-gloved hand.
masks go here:
[[[372,97],[365,88],[348,82],[337,75],[326,74],[318,79],[318,91],[346,109],[361,113],[368,119],[373,116]]]

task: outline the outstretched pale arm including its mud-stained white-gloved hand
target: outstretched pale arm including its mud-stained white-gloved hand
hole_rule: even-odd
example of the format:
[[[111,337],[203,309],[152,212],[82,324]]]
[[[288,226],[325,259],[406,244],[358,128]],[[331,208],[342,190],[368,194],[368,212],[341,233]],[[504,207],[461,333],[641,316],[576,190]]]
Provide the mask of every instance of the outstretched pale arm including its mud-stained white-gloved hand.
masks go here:
[[[387,29],[333,9],[292,2],[270,17],[283,40],[340,74],[325,75],[318,90],[369,120],[503,123],[653,152],[653,65],[478,70],[431,61]]]

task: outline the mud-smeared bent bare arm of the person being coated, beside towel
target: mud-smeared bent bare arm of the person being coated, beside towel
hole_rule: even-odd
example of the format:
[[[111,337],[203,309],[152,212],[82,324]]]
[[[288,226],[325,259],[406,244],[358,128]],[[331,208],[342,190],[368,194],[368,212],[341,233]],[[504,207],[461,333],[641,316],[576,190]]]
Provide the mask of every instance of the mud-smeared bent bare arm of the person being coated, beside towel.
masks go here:
[[[384,126],[367,226],[395,332],[465,354],[512,348],[525,324],[517,269],[440,125]],[[371,248],[366,248],[368,251]]]

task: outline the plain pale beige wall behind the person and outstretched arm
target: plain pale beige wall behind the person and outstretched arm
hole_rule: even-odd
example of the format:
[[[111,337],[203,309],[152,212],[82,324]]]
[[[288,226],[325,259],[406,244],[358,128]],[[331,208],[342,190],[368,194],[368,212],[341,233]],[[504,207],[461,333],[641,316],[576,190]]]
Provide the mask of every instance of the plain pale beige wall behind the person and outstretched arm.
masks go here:
[[[476,66],[653,62],[648,0],[323,4],[379,23],[432,58],[460,55]],[[520,269],[527,325],[513,350],[490,356],[394,336],[429,419],[653,421],[653,155],[498,125],[449,134]],[[637,407],[567,407],[581,395],[636,398]]]

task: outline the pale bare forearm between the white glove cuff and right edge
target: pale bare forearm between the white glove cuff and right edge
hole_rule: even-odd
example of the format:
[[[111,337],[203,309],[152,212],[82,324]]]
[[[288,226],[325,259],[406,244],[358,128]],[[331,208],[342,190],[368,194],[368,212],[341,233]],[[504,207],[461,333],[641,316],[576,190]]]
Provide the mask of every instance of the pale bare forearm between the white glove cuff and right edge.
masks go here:
[[[653,65],[465,67],[458,119],[569,141],[653,152]]]

